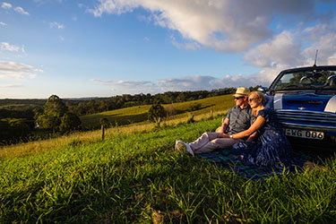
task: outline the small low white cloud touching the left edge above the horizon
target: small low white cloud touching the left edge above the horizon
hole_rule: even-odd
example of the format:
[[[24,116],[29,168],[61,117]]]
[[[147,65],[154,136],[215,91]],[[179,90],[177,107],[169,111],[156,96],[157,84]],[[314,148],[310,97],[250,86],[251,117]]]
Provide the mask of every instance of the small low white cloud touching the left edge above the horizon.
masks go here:
[[[37,73],[42,72],[41,69],[31,65],[0,61],[0,79],[25,79],[26,77],[33,79]]]

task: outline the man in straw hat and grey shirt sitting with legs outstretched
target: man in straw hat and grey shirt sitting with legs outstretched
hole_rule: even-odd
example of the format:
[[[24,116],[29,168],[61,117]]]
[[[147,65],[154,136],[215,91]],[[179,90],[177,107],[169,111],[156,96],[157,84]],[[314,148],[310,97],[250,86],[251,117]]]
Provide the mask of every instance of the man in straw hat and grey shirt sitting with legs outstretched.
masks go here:
[[[252,125],[254,116],[252,115],[252,109],[248,105],[248,94],[250,94],[250,90],[245,87],[237,88],[236,93],[233,95],[236,107],[228,110],[228,115],[220,126],[220,132],[204,133],[196,141],[190,143],[177,140],[175,150],[185,151],[194,155],[220,148],[230,148],[239,141],[253,141],[253,137],[241,140],[223,138],[224,135],[242,132]]]

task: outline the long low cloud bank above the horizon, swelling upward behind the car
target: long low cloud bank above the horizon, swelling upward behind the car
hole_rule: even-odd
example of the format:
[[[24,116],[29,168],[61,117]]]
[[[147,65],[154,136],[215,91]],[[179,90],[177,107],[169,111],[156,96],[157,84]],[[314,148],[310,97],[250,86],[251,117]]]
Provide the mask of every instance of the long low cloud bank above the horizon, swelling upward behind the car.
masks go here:
[[[320,35],[315,35],[318,32]],[[174,38],[171,38],[174,39]],[[171,90],[213,90],[226,87],[256,86],[268,87],[284,69],[314,65],[315,50],[318,49],[317,65],[336,65],[336,18],[331,22],[284,30],[260,45],[248,50],[246,62],[260,67],[258,73],[225,74],[223,78],[211,75],[193,75],[175,79],[162,79],[158,82],[95,82],[108,85],[115,94],[158,93]]]

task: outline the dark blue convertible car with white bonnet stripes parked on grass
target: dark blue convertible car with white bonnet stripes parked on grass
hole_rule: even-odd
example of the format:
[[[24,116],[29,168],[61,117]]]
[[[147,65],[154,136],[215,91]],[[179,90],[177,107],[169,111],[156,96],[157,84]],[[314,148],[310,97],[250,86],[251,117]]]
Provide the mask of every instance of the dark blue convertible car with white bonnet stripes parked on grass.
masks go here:
[[[321,151],[336,151],[336,66],[282,71],[266,93],[289,142]]]

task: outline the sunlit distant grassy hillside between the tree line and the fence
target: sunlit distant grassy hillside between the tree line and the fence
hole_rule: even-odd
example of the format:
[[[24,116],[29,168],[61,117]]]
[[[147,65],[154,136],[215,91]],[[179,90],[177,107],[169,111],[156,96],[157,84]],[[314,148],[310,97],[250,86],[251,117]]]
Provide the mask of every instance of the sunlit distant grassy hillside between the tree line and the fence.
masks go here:
[[[190,111],[193,106],[198,105],[199,108],[195,111]],[[183,103],[174,103],[163,105],[168,111],[171,111],[174,115],[166,117],[166,121],[175,120],[185,116],[204,115],[213,111],[214,115],[224,113],[228,108],[235,105],[231,95],[211,97],[207,99],[198,99]],[[129,125],[134,123],[141,123],[147,121],[147,112],[151,108],[150,105],[135,106],[132,108],[121,108],[102,112],[93,115],[81,116],[82,126],[85,129],[97,129],[100,127],[100,119],[103,117],[108,118],[111,124],[117,125]]]

